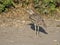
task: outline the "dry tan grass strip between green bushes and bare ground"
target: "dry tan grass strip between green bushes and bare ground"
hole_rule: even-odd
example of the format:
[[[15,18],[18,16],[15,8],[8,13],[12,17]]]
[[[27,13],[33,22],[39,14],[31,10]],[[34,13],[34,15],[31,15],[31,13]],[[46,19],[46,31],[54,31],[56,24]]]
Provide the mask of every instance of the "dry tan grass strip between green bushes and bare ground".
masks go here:
[[[31,8],[31,4],[28,5]],[[20,19],[20,20],[29,20],[29,14],[24,11],[27,7],[22,8],[20,4],[16,5],[16,8],[10,8],[9,11],[3,12],[0,14],[0,18],[11,18],[11,19]],[[45,19],[60,19],[60,12],[55,12],[55,15],[44,15],[42,14],[43,18]]]

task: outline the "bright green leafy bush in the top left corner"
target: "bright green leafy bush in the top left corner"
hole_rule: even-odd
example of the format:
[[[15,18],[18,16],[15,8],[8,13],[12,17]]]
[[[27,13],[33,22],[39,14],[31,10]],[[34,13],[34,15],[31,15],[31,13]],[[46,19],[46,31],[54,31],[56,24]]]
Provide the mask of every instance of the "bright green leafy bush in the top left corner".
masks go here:
[[[13,0],[0,0],[0,13],[10,6],[14,7]]]

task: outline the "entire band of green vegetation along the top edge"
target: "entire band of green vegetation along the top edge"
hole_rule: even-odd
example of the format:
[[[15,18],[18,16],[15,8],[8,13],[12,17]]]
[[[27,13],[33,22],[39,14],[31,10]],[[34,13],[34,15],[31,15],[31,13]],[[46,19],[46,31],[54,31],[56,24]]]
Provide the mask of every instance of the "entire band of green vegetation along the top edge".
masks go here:
[[[0,12],[3,12],[7,7],[15,7],[15,3],[22,4],[22,7],[28,6],[30,0],[0,0]],[[60,0],[33,0],[33,8],[43,14],[51,14],[59,9]]]

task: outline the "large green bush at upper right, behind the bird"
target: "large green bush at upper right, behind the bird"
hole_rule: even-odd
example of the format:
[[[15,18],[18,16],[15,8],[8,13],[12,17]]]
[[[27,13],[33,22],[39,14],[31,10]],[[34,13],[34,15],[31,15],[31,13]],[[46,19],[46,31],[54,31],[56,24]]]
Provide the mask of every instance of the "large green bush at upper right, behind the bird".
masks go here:
[[[44,14],[49,14],[56,11],[56,8],[60,5],[59,0],[34,0],[34,2],[34,8]]]

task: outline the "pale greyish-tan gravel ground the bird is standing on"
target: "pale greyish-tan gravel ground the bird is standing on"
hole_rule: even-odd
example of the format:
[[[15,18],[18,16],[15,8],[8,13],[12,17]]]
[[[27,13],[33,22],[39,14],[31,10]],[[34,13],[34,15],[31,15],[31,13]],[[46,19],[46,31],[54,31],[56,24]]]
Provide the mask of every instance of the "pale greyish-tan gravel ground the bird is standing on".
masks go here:
[[[0,21],[0,45],[60,45],[60,21],[45,22],[47,29],[36,36],[30,21]]]

